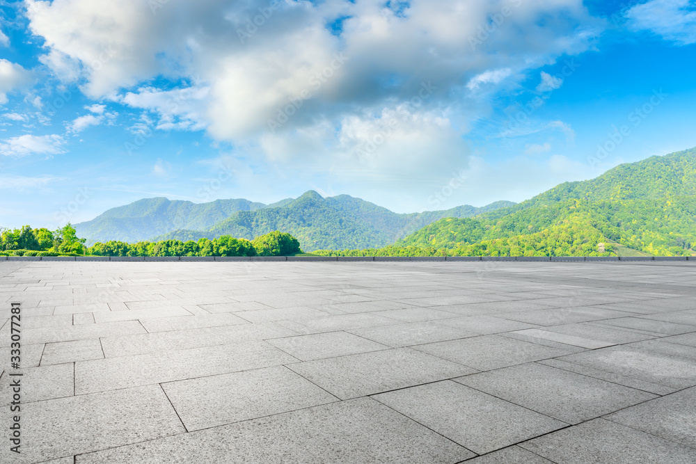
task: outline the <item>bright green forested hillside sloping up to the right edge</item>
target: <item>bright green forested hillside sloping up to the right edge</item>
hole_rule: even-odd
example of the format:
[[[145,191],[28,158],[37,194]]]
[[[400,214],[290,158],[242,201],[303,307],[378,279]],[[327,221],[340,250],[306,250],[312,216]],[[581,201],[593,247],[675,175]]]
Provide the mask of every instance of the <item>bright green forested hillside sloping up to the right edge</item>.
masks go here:
[[[622,164],[473,218],[446,218],[395,245],[454,255],[691,255],[696,149]]]

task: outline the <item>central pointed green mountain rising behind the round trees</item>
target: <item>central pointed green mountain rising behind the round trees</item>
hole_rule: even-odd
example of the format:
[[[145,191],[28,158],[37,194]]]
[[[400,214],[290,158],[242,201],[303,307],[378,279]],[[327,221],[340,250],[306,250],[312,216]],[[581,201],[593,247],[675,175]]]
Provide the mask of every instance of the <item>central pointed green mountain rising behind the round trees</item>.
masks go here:
[[[315,191],[308,191],[299,198],[274,205],[255,211],[238,211],[207,230],[176,230],[152,240],[186,241],[221,235],[253,239],[279,230],[296,237],[304,251],[381,247],[441,218],[474,216],[514,203],[496,202],[482,208],[464,205],[445,211],[397,214],[350,195],[323,198]]]

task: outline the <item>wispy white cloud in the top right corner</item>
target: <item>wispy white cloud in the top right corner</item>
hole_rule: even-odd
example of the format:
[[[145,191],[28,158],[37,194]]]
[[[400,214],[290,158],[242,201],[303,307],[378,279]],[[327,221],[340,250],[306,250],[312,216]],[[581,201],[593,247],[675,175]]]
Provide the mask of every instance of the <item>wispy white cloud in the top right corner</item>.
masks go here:
[[[651,0],[626,13],[634,31],[652,31],[680,45],[696,43],[696,4],[690,0]]]

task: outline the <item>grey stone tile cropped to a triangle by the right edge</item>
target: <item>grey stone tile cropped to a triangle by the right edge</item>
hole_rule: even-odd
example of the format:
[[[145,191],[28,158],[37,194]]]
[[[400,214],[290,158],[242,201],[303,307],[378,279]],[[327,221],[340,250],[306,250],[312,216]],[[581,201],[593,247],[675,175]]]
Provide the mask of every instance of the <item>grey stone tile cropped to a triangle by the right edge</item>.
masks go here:
[[[626,408],[604,418],[696,448],[696,387]]]

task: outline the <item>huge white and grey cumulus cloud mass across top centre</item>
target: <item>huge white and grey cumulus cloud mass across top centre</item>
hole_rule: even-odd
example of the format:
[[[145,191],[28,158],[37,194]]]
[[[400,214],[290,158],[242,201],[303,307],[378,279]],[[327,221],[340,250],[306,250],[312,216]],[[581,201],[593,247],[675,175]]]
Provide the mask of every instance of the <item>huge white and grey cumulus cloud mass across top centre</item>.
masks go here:
[[[370,175],[399,157],[429,172],[458,160],[466,121],[452,122],[463,104],[452,95],[513,85],[599,33],[582,0],[280,1],[273,10],[267,0],[202,0],[154,12],[142,0],[28,3],[43,63],[89,97],[142,109],[161,130],[205,129],[255,157],[329,159]],[[512,13],[473,49],[470,38],[504,8]],[[382,130],[424,83],[432,94],[399,116],[404,129],[381,156],[354,156],[358,138]]]

